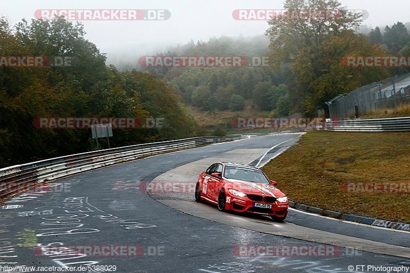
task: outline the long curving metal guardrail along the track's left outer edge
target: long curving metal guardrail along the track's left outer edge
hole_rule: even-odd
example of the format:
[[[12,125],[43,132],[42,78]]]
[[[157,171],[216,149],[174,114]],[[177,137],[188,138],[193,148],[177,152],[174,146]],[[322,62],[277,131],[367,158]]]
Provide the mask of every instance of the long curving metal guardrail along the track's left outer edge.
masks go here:
[[[31,186],[73,174],[87,172],[164,152],[192,148],[202,144],[233,140],[226,137],[194,137],[153,142],[51,158],[0,169],[0,197]]]

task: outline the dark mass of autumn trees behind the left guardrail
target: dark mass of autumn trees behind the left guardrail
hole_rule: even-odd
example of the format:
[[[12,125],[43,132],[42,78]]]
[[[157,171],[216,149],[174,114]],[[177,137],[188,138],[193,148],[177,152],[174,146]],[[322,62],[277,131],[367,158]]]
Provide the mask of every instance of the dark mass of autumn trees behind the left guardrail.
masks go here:
[[[195,135],[195,123],[167,83],[148,73],[120,73],[65,20],[23,21],[12,33],[0,18],[0,56],[71,56],[72,67],[0,69],[0,167],[92,149],[85,129],[37,129],[40,117],[162,118],[163,127],[113,129],[112,146]],[[144,124],[146,125],[146,124]],[[27,141],[27,140],[30,141]],[[104,139],[100,143],[106,147]]]

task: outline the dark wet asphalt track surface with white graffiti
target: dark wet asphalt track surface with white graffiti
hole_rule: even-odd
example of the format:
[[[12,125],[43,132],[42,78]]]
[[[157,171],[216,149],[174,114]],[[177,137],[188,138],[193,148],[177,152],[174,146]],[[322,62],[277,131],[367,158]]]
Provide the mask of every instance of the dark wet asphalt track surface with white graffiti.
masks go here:
[[[0,209],[0,271],[5,271],[6,265],[91,265],[90,270],[82,270],[86,272],[113,271],[109,266],[115,265],[116,272],[232,273],[351,272],[349,265],[354,271],[361,268],[356,265],[365,265],[365,269],[367,265],[410,266],[410,259],[365,252],[354,245],[333,247],[198,218],[159,203],[145,191],[147,182],[178,166],[232,150],[268,151],[292,138],[295,135],[252,137],[149,157],[53,181],[54,187],[47,192],[17,195],[7,202],[8,207]],[[295,211],[290,212],[288,223],[276,224],[289,223],[409,246],[408,233]],[[264,225],[263,221],[260,224]],[[255,248],[249,246],[276,246],[281,254],[254,256],[251,249]],[[297,255],[306,248],[312,250],[310,256]],[[330,251],[325,255],[315,251],[323,248]],[[296,252],[291,255],[286,252],[289,249]],[[106,267],[96,267],[101,265]]]

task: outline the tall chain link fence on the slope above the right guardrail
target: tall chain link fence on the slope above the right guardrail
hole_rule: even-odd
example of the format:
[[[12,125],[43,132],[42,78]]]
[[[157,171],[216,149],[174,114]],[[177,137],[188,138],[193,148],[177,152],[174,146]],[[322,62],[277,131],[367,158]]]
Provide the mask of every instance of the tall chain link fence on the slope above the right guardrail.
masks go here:
[[[410,73],[359,87],[346,96],[340,94],[326,104],[332,118],[345,119],[401,103],[410,103]]]

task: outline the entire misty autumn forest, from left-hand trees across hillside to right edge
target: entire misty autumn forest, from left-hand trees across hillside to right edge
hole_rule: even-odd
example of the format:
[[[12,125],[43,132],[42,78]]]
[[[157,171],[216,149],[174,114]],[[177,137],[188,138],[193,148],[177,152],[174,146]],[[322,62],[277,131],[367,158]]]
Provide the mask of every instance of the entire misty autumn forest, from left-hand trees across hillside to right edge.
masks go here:
[[[355,68],[340,60],[352,56],[410,56],[408,23],[397,22],[360,33],[360,15],[337,1],[300,4],[285,9],[339,9],[338,20],[270,20],[254,37],[212,37],[159,52],[172,56],[269,57],[269,66],[139,67],[107,65],[107,56],[85,38],[81,23],[64,19],[23,19],[11,26],[0,17],[0,56],[60,56],[70,66],[0,68],[0,167],[107,148],[97,147],[86,129],[38,129],[39,118],[160,118],[161,128],[113,129],[111,146],[213,134],[189,114],[269,111],[280,117],[316,115],[338,94],[402,74],[409,68]],[[311,6],[309,6],[311,5]],[[313,6],[316,5],[316,6]],[[363,29],[363,28],[362,28]]]

